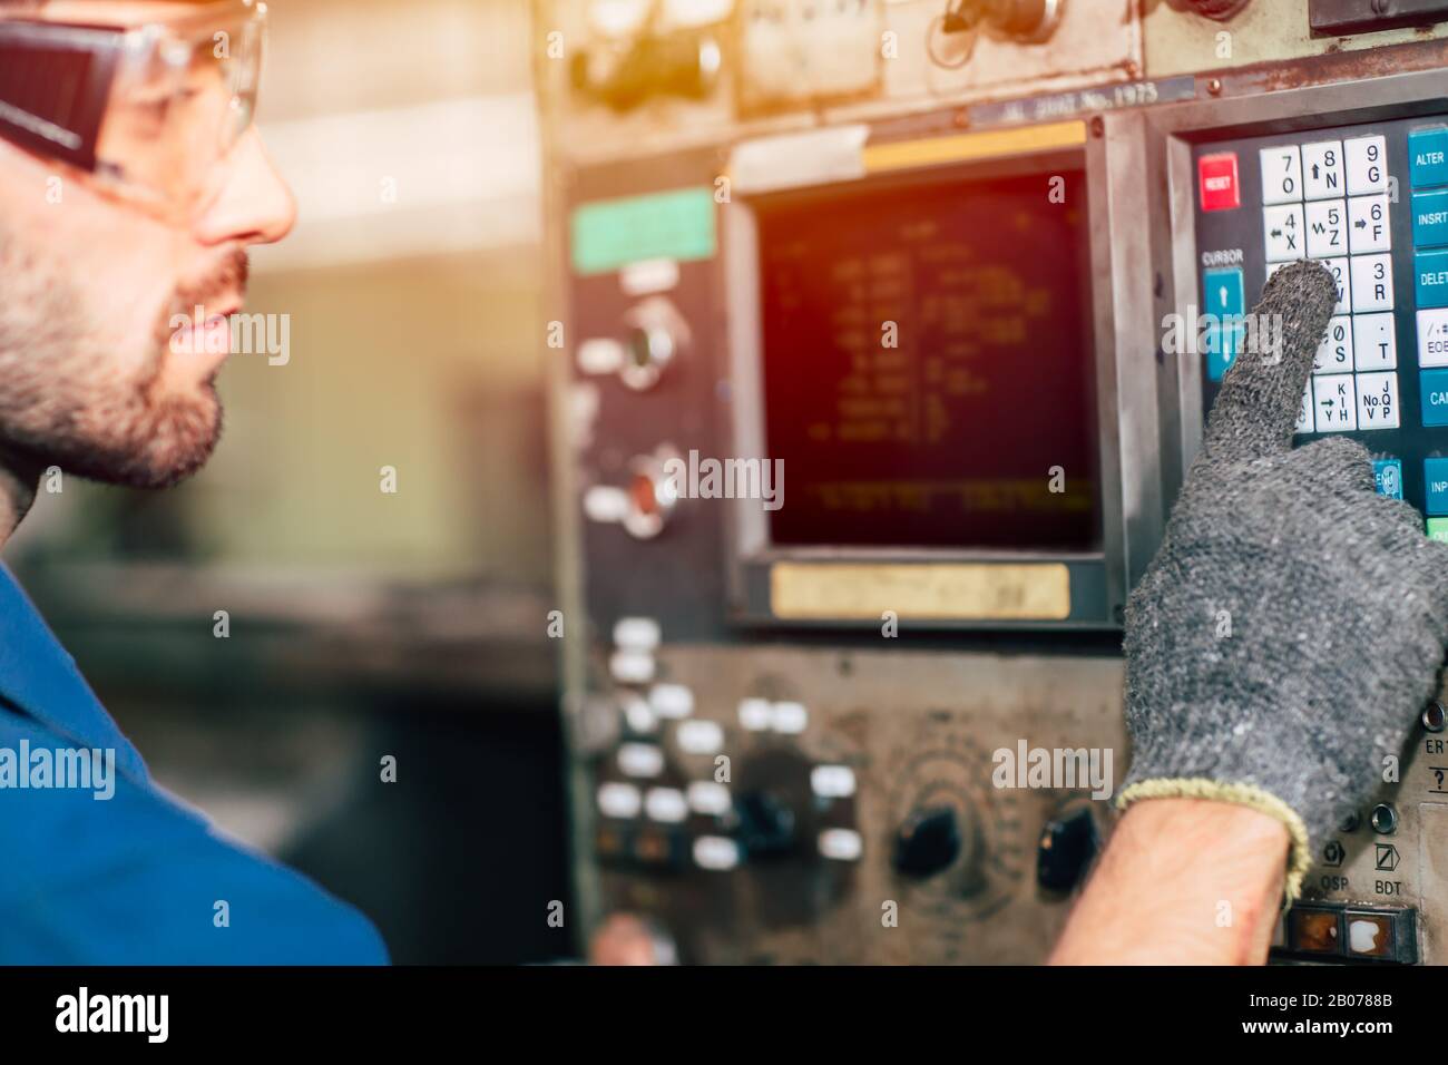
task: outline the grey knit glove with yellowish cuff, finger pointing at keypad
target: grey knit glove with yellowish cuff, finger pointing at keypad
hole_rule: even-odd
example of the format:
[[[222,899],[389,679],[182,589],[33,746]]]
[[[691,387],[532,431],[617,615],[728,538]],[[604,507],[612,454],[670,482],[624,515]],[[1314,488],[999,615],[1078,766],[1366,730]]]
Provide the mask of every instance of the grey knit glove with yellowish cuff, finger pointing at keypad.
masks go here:
[[[1402,753],[1448,643],[1448,546],[1423,535],[1412,506],[1373,490],[1361,443],[1290,446],[1335,298],[1312,262],[1267,284],[1253,313],[1281,316],[1280,343],[1244,351],[1226,372],[1127,606],[1134,759],[1118,806],[1218,798],[1280,819],[1289,898],[1312,843]]]

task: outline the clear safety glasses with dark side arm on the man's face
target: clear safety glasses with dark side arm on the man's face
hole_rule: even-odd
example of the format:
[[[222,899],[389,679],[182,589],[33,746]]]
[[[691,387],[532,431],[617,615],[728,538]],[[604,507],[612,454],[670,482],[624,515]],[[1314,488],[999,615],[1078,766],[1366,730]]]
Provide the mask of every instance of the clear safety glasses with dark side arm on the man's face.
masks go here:
[[[265,32],[259,0],[143,26],[0,19],[0,136],[151,213],[193,217],[252,122]]]

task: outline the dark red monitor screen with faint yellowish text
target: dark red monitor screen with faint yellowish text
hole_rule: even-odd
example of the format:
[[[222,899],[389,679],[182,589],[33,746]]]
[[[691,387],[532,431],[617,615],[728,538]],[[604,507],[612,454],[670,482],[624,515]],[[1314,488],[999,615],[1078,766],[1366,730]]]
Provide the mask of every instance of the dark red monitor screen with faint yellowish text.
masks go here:
[[[775,545],[1099,545],[1079,165],[756,203]]]

